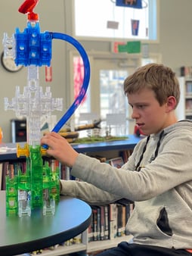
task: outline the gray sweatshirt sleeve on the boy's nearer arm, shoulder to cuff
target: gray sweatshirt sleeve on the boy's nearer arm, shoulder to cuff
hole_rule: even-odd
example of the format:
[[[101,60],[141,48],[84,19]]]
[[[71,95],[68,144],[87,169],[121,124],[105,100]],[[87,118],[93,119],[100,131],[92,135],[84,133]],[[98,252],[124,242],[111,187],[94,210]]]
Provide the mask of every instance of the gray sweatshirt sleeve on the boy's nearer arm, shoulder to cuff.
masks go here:
[[[192,180],[189,164],[191,143],[192,137],[187,133],[180,134],[178,138],[175,138],[175,133],[166,135],[166,139],[159,147],[158,156],[151,161],[154,152],[152,148],[151,155],[147,154],[147,159],[139,172],[132,171],[129,167],[133,165],[131,163],[135,161],[134,158],[139,158],[141,155],[141,148],[134,150],[130,163],[128,161],[119,169],[110,164],[101,163],[95,158],[79,154],[71,173],[120,198],[144,201]],[[136,160],[138,162],[138,159]]]

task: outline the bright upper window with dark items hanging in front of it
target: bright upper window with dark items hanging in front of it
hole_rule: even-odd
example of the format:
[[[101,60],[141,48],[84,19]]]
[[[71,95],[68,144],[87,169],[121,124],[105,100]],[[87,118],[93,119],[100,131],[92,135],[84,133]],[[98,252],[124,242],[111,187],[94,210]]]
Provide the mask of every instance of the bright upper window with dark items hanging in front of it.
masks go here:
[[[142,8],[128,8],[116,6],[115,0],[74,0],[74,36],[155,41],[156,1],[142,0]]]

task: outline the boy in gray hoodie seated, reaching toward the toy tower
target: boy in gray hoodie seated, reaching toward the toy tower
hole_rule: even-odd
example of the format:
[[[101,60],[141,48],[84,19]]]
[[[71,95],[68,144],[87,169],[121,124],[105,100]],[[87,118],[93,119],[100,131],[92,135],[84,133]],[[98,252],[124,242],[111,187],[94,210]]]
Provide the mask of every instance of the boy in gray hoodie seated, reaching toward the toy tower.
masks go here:
[[[42,138],[48,155],[85,181],[61,180],[60,193],[98,205],[135,201],[126,225],[133,241],[99,255],[192,255],[192,123],[175,115],[178,80],[169,67],[147,64],[125,79],[124,91],[132,118],[147,136],[122,168],[78,154],[56,133]]]

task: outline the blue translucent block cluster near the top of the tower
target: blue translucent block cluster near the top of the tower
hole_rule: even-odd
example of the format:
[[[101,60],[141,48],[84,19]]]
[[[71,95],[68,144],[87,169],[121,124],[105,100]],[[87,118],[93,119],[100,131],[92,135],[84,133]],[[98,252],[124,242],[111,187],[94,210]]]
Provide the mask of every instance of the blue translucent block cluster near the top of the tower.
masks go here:
[[[27,23],[23,31],[17,28],[15,39],[15,64],[29,66],[51,66],[51,41],[52,33],[45,31],[40,33],[39,23]]]

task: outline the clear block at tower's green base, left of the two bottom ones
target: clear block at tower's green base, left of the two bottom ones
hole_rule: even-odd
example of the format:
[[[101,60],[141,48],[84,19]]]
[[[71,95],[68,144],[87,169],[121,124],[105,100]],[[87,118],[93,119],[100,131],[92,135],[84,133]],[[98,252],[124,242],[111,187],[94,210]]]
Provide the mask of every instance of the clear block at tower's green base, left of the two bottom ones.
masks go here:
[[[18,191],[18,215],[19,217],[31,216],[31,200],[30,192],[26,190]]]

